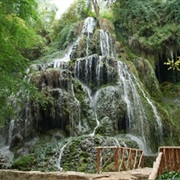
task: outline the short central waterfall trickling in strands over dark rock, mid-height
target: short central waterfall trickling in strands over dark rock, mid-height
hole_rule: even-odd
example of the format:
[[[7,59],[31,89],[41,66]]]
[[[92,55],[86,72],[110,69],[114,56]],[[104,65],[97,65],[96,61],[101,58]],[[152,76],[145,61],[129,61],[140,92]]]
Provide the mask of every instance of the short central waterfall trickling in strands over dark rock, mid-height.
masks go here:
[[[74,74],[88,87],[97,89],[97,87],[111,83],[115,78],[110,62],[112,60],[107,57],[96,54],[80,58],[75,62]]]

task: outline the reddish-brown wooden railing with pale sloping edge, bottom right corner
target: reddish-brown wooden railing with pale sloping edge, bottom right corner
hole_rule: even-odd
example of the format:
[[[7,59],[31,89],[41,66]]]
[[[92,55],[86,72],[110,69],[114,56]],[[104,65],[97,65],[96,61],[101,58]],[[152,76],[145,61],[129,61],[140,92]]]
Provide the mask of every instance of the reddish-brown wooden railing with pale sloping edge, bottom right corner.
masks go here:
[[[180,146],[159,147],[159,154],[149,179],[156,179],[165,172],[180,172]]]

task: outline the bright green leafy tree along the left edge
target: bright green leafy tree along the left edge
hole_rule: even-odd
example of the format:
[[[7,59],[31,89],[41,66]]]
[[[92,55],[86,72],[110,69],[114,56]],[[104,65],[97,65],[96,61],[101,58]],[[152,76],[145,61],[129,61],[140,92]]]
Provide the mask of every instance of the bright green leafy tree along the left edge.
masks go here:
[[[25,86],[22,79],[29,61],[23,51],[41,41],[32,27],[38,18],[36,8],[35,0],[0,2],[0,120],[10,114],[7,98]]]

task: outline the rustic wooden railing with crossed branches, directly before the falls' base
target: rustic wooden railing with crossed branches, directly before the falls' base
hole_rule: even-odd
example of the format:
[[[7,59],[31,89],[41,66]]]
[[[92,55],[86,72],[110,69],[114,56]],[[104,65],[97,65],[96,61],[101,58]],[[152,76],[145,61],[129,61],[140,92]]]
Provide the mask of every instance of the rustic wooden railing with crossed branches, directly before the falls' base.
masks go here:
[[[120,146],[101,146],[97,150],[97,173],[101,173],[108,165],[114,171],[137,169],[143,165],[143,151]],[[107,170],[106,170],[107,171]]]

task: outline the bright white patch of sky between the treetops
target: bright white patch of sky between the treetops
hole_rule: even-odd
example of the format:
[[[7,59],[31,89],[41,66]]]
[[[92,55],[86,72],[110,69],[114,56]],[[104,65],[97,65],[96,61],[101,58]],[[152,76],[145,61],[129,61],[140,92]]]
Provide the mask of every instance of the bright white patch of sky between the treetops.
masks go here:
[[[52,0],[58,8],[56,18],[59,19],[61,14],[74,2],[74,0]]]

